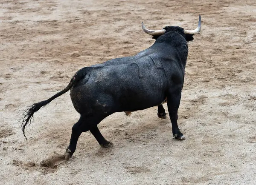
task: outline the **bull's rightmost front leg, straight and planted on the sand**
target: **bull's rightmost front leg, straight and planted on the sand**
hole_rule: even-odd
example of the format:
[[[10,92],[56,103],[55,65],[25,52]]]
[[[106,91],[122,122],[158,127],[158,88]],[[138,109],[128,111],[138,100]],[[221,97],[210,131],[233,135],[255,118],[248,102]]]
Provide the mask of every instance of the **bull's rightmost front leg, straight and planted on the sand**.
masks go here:
[[[175,139],[184,140],[186,139],[183,134],[180,132],[178,127],[178,109],[180,106],[181,99],[181,89],[178,89],[175,92],[171,92],[167,95],[167,107],[169,116],[172,122],[172,134]]]

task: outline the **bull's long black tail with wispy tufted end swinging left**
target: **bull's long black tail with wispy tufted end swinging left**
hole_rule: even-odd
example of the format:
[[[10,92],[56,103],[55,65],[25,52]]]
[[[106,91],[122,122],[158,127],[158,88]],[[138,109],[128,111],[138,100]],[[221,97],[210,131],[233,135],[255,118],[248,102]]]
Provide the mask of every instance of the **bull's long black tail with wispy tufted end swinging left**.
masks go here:
[[[62,91],[58,92],[57,94],[55,94],[54,96],[50,97],[48,100],[44,100],[44,101],[41,101],[41,102],[38,102],[38,103],[34,103],[31,107],[27,108],[24,113],[23,113],[23,116],[22,118],[19,120],[19,122],[21,122],[21,127],[22,127],[22,132],[23,132],[23,135],[24,137],[26,138],[26,135],[25,135],[25,128],[26,128],[26,125],[27,124],[31,124],[31,120],[34,116],[34,113],[36,111],[38,111],[41,107],[44,107],[46,106],[49,102],[51,102],[52,100],[54,100],[55,98],[61,96],[62,94],[66,93],[67,91],[70,90],[70,88],[73,86],[73,85],[76,85],[76,83],[81,80],[82,78],[84,78],[86,74],[86,70],[85,68],[82,68],[81,70],[79,70],[73,77],[72,79],[70,80],[70,83],[67,85],[66,88],[64,88]],[[27,138],[26,138],[27,140]]]

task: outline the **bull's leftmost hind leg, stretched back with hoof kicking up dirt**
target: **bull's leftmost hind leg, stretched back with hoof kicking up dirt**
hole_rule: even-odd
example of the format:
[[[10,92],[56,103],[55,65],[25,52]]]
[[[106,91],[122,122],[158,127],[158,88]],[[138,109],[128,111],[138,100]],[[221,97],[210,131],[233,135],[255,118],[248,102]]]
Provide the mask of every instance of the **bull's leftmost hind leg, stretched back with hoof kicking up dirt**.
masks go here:
[[[82,134],[82,132],[89,131],[89,127],[86,124],[86,120],[83,116],[80,117],[79,121],[76,122],[75,125],[72,127],[72,133],[70,138],[70,145],[68,146],[66,153],[65,153],[65,159],[68,160],[74,152],[76,151],[76,144],[78,141],[79,136]]]

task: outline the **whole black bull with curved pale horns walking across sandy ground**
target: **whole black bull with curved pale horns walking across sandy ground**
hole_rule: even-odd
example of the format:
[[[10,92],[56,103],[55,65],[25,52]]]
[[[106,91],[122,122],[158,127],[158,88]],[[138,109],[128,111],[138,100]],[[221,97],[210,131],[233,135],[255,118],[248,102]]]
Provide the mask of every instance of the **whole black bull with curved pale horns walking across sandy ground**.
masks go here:
[[[82,68],[64,90],[48,100],[33,104],[21,120],[24,136],[25,127],[31,123],[33,114],[70,90],[74,108],[81,117],[72,127],[66,159],[75,152],[82,132],[90,131],[102,147],[110,146],[111,142],[102,136],[97,125],[115,112],[158,106],[158,117],[166,118],[162,105],[166,98],[172,134],[176,139],[185,139],[177,125],[177,111],[188,55],[187,42],[193,40],[193,34],[185,34],[186,30],[177,26],[163,29],[161,35],[152,34],[156,41],[151,47],[132,57],[116,58]]]

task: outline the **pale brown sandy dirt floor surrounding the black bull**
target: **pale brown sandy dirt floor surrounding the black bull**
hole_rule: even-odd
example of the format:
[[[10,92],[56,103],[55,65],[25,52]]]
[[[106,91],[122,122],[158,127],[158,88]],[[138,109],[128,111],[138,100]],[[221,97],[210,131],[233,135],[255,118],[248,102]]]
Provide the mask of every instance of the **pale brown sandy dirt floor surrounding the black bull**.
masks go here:
[[[172,137],[157,107],[99,124],[61,161],[79,119],[70,93],[35,113],[23,137],[19,114],[62,90],[84,66],[137,54],[150,29],[195,29]],[[0,182],[2,185],[256,184],[255,0],[1,0]],[[166,108],[166,104],[164,107]]]

